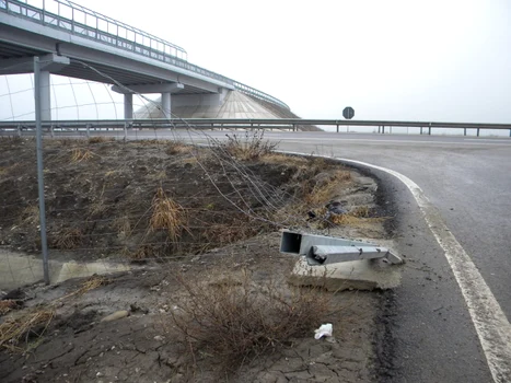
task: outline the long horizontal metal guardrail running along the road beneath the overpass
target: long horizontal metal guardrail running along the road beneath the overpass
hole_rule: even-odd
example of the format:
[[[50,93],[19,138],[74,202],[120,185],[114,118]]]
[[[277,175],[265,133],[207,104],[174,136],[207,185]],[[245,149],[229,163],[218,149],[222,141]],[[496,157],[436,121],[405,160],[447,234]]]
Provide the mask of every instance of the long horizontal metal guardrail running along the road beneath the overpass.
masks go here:
[[[104,120],[54,120],[43,121],[43,129],[53,131],[61,130],[103,130],[103,129],[281,129],[298,130],[299,126],[318,125],[318,126],[367,126],[379,127],[379,132],[385,134],[385,127],[415,127],[427,129],[431,135],[433,128],[457,128],[464,129],[466,136],[467,129],[475,129],[477,137],[480,130],[497,129],[509,130],[511,137],[511,124],[478,124],[478,123],[434,123],[434,121],[391,121],[391,120],[346,120],[346,119],[300,119],[300,118],[280,118],[280,119],[260,119],[260,118],[159,118],[159,119],[104,119]],[[35,121],[0,121],[0,132],[35,129]]]

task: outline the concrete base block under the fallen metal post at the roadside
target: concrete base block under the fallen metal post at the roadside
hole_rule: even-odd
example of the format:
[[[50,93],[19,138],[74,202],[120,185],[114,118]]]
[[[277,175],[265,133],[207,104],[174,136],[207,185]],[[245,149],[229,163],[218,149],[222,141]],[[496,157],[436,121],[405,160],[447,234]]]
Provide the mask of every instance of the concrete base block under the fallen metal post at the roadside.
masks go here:
[[[324,287],[328,291],[385,290],[399,286],[402,270],[402,265],[391,265],[382,259],[309,266],[305,257],[300,257],[289,277],[289,282],[294,286]]]

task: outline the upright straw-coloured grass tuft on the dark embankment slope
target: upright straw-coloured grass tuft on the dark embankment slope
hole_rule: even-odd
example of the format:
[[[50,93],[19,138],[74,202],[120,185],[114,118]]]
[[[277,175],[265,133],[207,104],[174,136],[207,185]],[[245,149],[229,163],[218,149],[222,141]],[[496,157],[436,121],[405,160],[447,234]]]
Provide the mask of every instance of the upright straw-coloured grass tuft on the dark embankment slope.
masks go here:
[[[166,230],[172,242],[177,242],[187,229],[186,212],[183,207],[169,198],[163,188],[158,188],[151,204],[152,216],[149,221],[151,231]]]

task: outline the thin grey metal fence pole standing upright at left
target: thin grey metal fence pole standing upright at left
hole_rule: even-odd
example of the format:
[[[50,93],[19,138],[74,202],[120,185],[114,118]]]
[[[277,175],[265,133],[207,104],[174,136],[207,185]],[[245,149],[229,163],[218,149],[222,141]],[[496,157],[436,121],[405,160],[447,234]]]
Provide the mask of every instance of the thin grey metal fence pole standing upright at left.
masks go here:
[[[37,146],[37,182],[39,192],[39,228],[40,249],[43,253],[43,274],[46,285],[49,285],[48,244],[46,241],[46,210],[45,210],[45,179],[43,175],[43,127],[40,124],[40,69],[39,58],[34,57],[34,101],[35,101],[35,127]]]

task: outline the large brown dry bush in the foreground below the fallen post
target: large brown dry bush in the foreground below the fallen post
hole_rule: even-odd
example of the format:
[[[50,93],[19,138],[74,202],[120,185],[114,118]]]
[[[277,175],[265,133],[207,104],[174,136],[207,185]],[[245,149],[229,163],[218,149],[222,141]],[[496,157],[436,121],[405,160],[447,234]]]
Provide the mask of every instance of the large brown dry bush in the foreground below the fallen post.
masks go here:
[[[185,293],[172,313],[184,352],[195,363],[213,357],[229,373],[248,358],[309,336],[329,313],[332,295],[321,289],[257,283],[248,272],[207,283],[176,276]]]

